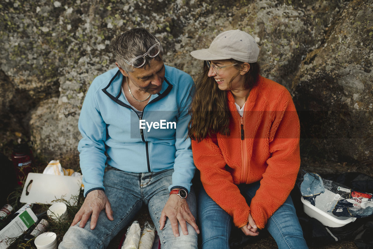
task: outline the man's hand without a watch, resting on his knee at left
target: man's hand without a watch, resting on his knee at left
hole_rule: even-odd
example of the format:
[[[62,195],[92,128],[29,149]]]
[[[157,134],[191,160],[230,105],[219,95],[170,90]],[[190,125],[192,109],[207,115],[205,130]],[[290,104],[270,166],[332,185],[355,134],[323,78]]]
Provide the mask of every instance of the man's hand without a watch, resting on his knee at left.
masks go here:
[[[83,205],[76,213],[71,226],[76,225],[80,221],[79,227],[84,227],[88,219],[92,217],[90,228],[93,230],[96,227],[98,215],[100,215],[103,209],[105,209],[107,218],[113,221],[113,210],[105,192],[102,190],[93,190],[89,192],[87,197],[85,197]]]

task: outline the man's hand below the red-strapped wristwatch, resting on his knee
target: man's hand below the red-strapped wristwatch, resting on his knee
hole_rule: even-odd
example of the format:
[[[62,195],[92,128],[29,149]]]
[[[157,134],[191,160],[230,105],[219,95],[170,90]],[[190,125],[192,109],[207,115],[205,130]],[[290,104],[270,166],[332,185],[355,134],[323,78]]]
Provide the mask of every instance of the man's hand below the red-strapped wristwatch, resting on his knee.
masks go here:
[[[188,229],[186,228],[186,222],[188,222],[194,230],[199,234],[197,224],[195,223],[195,218],[189,210],[188,203],[186,199],[181,199],[180,196],[176,194],[171,194],[167,200],[166,205],[161,213],[161,218],[159,220],[160,227],[162,230],[166,224],[167,217],[170,219],[173,235],[175,237],[179,236],[179,224],[184,235],[188,235]]]

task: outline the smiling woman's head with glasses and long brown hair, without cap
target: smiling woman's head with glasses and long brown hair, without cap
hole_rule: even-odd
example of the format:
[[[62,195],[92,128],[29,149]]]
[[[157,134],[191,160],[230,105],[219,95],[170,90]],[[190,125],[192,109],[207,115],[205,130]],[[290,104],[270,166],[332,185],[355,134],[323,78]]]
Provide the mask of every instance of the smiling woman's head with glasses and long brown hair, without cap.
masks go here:
[[[258,81],[259,72],[260,66],[257,62],[244,63],[235,59],[205,60],[191,106],[194,122],[191,121],[193,125],[189,129],[189,136],[200,141],[213,133],[229,135],[229,110],[225,91],[231,90],[247,97]],[[244,98],[237,97],[240,107],[242,100]]]

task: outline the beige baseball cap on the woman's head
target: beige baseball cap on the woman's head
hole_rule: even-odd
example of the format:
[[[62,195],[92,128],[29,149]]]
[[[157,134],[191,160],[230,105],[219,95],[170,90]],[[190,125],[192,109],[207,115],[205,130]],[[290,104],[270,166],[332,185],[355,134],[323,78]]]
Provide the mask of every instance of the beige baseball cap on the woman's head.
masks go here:
[[[241,62],[257,62],[259,47],[255,39],[239,29],[220,33],[208,49],[194,50],[190,53],[198,60],[235,59]]]

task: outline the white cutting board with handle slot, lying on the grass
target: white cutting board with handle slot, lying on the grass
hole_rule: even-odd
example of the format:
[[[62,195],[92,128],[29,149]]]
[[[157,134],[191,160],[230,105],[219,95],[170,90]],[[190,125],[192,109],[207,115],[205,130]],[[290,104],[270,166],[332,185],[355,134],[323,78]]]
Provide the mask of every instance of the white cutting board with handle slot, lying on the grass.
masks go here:
[[[77,198],[72,197],[79,196],[81,185],[81,177],[29,173],[20,202],[51,204],[53,200],[65,199],[75,206]]]

